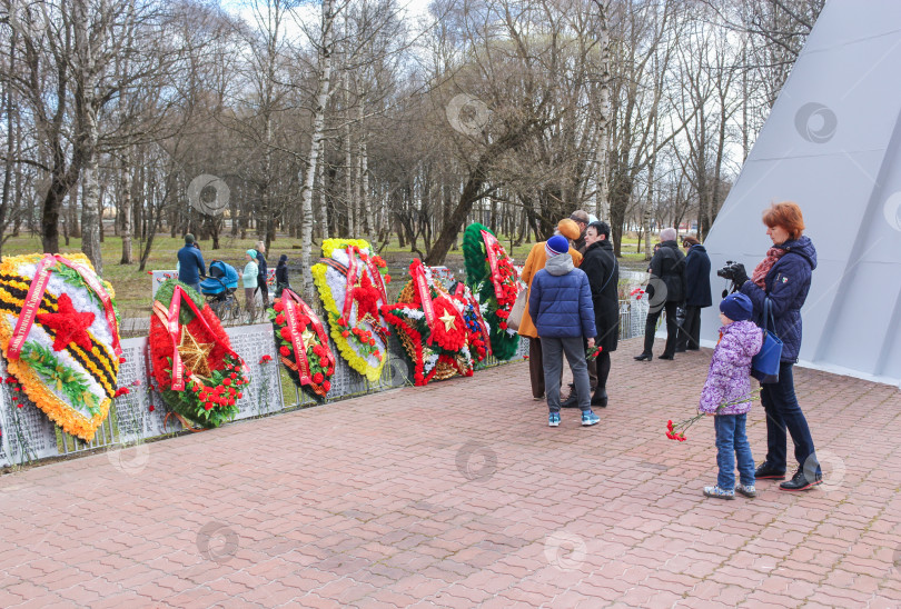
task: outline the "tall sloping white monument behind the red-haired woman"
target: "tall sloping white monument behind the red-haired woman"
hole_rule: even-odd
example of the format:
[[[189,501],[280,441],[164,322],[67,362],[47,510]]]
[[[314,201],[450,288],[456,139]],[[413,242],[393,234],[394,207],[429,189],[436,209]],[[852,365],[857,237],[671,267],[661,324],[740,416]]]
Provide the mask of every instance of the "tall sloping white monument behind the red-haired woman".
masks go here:
[[[801,206],[819,257],[799,365],[901,385],[901,1],[831,0],[820,14],[704,243],[706,347],[716,270],[752,273],[776,201]]]

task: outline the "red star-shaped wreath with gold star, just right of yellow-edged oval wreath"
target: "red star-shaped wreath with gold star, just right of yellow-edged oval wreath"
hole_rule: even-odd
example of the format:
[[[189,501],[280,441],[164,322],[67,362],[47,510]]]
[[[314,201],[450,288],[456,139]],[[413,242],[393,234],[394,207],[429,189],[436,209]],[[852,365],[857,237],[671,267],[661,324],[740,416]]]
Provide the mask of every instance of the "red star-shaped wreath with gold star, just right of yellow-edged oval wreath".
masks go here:
[[[464,306],[445,291],[419,260],[409,266],[412,279],[397,303],[382,307],[414,365],[416,385],[454,375],[471,377],[473,358],[467,343]]]

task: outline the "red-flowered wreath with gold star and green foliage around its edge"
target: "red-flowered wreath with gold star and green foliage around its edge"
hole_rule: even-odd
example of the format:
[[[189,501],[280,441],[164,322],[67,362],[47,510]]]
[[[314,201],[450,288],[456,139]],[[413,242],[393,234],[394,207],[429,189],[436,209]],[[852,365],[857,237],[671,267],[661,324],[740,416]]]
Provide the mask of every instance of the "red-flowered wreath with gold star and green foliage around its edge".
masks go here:
[[[235,418],[241,387],[250,382],[247,367],[199,293],[165,281],[154,300],[148,342],[154,379],[172,412],[207,428]]]

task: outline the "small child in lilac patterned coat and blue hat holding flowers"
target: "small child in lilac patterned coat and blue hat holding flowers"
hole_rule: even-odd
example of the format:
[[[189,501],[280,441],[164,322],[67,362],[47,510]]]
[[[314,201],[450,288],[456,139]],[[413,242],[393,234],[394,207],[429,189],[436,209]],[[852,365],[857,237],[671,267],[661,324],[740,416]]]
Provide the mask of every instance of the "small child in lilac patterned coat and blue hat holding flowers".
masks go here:
[[[704,487],[704,495],[734,499],[735,491],[755,497],[754,458],[745,433],[751,410],[751,359],[763,346],[763,332],[751,321],[753,307],[743,293],[733,293],[720,302],[720,340],[713,351],[710,371],[701,391],[699,412],[714,416],[716,465],[720,475],[715,487]],[[741,481],[735,485],[737,457]]]

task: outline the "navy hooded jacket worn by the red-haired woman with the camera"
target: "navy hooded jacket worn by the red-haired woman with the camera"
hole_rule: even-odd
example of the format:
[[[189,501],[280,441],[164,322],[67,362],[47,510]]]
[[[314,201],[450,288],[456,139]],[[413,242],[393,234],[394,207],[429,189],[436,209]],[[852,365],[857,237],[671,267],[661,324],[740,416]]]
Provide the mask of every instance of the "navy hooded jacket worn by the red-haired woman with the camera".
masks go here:
[[[781,359],[795,362],[801,351],[801,307],[808,298],[813,269],[816,268],[816,250],[808,237],[789,240],[778,247],[784,249],[785,253],[766,273],[766,290],[749,279],[741,287],[741,292],[754,303],[754,321],[761,327],[763,302],[770,294],[775,333],[783,343]]]

